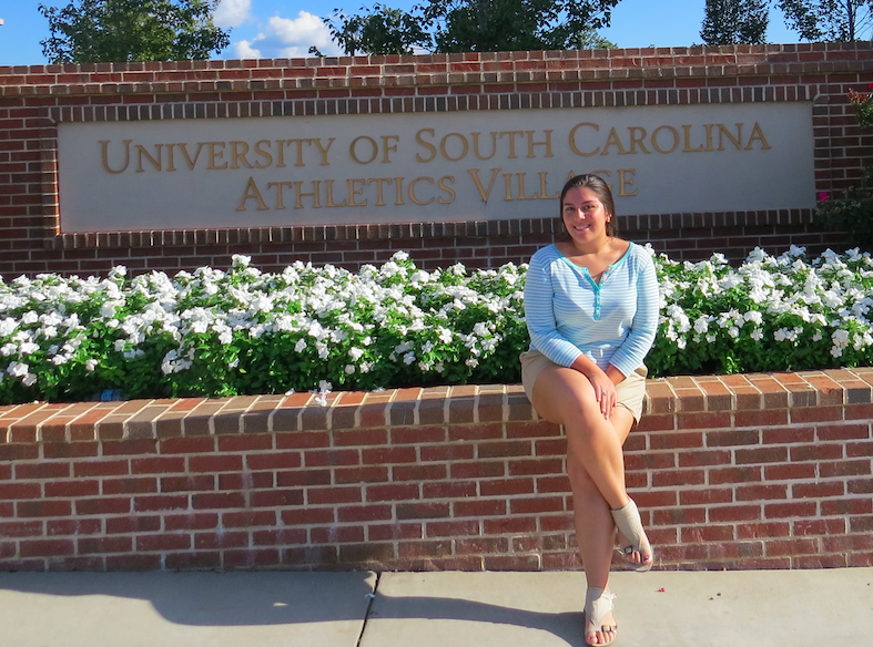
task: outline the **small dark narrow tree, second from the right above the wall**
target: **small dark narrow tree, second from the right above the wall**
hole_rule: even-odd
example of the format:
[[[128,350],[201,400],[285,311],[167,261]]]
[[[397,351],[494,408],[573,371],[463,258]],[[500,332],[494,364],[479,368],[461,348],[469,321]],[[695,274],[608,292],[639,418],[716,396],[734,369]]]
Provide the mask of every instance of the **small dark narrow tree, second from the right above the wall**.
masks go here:
[[[707,0],[700,38],[708,45],[763,44],[768,0]]]

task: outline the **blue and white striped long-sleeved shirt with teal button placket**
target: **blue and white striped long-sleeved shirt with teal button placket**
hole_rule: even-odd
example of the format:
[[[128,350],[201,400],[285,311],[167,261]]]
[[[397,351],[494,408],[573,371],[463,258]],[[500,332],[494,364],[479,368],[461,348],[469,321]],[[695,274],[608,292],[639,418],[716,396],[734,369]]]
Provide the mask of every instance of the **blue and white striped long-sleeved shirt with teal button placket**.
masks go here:
[[[569,367],[585,353],[626,377],[646,358],[658,330],[658,278],[649,253],[630,247],[597,284],[555,245],[530,259],[525,318],[531,350]]]

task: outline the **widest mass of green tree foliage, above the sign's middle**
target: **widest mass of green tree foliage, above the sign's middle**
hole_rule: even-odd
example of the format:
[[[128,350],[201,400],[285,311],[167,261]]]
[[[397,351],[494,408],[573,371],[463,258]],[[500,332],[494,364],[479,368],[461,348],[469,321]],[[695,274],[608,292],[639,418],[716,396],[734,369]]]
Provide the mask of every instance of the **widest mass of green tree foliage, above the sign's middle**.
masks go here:
[[[410,12],[376,4],[325,19],[346,54],[494,52],[615,47],[597,35],[620,0],[426,0]]]

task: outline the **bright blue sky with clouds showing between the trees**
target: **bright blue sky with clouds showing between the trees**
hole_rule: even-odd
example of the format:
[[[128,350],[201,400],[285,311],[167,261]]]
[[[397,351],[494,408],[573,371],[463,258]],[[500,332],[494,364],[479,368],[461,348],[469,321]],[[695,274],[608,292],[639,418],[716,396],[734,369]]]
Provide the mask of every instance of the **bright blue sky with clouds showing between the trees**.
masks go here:
[[[309,45],[325,54],[338,54],[321,17],[334,7],[356,12],[376,0],[222,0],[215,19],[230,28],[231,45],[216,58],[305,57]],[[65,6],[68,0],[42,0]],[[419,0],[383,0],[388,7],[409,9]],[[49,35],[39,13],[39,0],[0,0],[0,65],[45,63],[40,41]],[[700,44],[704,0],[621,0],[612,13],[612,27],[601,34],[622,48],[684,47]],[[798,42],[784,27],[781,13],[770,20],[768,40]]]

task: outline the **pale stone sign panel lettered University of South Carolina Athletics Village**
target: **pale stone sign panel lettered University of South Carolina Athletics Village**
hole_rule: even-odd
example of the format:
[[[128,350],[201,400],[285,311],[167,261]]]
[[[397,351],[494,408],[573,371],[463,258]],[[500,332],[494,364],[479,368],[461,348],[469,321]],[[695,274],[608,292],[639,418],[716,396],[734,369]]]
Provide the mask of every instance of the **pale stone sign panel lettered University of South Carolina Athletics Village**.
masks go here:
[[[511,219],[599,173],[620,215],[814,206],[812,104],[61,123],[62,233]]]

